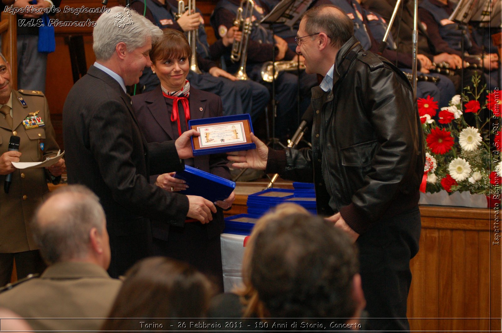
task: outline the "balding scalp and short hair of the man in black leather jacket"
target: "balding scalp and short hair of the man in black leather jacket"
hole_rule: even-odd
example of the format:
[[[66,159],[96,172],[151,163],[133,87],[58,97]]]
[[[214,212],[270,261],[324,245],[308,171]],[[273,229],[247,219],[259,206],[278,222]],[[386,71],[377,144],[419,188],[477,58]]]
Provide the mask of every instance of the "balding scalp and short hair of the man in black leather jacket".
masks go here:
[[[345,12],[333,5],[314,7],[303,14],[305,32],[308,35],[325,33],[332,47],[340,48],[354,36],[354,24]]]

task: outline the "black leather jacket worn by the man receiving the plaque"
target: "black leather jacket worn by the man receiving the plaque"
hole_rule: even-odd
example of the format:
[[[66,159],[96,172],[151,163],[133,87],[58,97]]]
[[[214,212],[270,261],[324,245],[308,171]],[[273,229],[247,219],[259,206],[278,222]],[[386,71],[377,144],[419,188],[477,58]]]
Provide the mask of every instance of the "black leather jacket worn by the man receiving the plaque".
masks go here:
[[[269,150],[268,172],[314,181],[318,213],[339,211],[359,234],[417,206],[422,128],[399,69],[353,37],[337,53],[333,90],[312,88],[312,106],[312,148]]]

